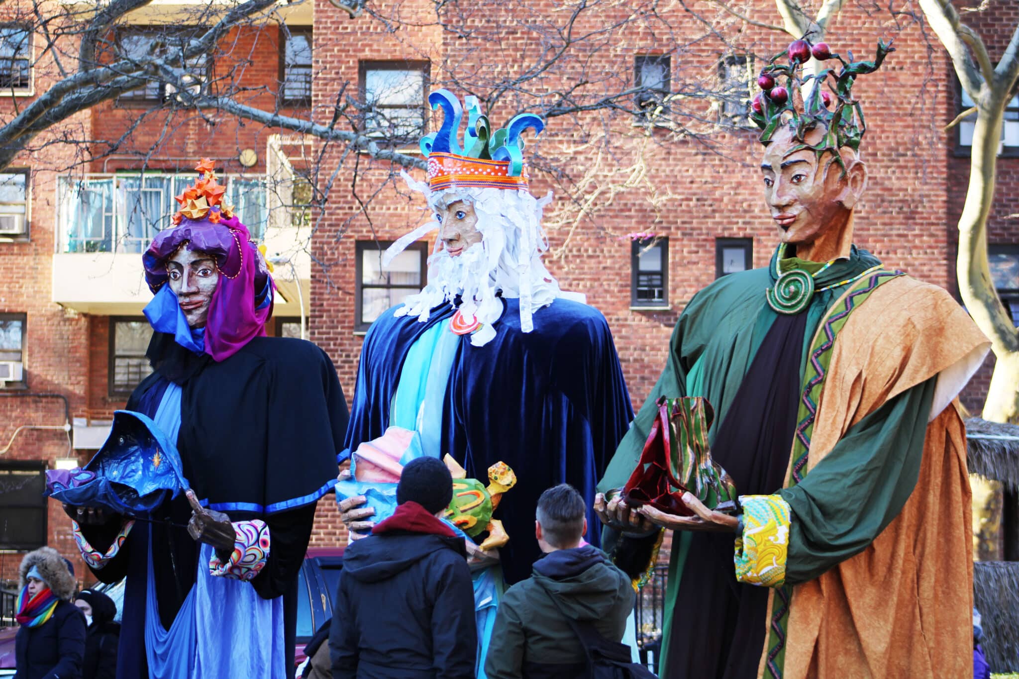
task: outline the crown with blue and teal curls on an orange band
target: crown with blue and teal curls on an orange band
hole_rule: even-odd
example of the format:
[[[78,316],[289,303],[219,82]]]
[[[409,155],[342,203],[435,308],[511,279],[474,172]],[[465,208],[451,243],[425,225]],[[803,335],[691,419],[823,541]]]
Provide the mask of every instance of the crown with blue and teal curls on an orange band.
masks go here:
[[[528,187],[527,164],[520,138],[526,129],[541,133],[545,122],[532,113],[514,116],[509,123],[491,132],[488,117],[481,114],[477,97],[466,97],[467,131],[460,143],[464,108],[448,90],[428,96],[432,109],[442,108],[442,126],[421,137],[421,153],[428,159],[428,185],[432,190],[451,186],[481,188]]]

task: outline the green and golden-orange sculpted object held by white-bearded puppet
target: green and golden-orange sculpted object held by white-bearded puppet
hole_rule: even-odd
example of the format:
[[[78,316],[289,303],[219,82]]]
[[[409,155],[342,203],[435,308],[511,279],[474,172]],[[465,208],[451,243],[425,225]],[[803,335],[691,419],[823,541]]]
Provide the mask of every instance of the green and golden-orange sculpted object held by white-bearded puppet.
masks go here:
[[[504,462],[488,467],[488,487],[476,478],[468,478],[467,471],[449,455],[442,458],[452,474],[452,500],[445,511],[445,518],[471,537],[488,531],[479,547],[492,550],[509,542],[502,522],[492,518],[502,494],[517,485],[517,475]]]

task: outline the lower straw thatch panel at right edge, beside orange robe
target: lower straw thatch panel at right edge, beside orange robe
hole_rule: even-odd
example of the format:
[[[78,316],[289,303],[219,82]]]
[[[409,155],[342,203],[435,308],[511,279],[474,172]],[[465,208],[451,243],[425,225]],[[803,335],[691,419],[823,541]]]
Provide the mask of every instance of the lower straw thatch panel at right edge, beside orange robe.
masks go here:
[[[991,672],[1019,672],[1019,561],[973,564],[973,605],[980,612],[983,653]]]

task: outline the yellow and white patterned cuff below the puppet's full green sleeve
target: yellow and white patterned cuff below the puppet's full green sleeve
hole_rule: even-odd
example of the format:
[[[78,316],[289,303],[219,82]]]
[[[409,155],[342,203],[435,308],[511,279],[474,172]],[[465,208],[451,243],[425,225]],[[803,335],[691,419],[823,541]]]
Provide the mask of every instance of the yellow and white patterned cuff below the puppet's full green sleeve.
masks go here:
[[[786,581],[789,504],[779,495],[744,495],[743,531],[736,539],[736,579],[779,587]]]

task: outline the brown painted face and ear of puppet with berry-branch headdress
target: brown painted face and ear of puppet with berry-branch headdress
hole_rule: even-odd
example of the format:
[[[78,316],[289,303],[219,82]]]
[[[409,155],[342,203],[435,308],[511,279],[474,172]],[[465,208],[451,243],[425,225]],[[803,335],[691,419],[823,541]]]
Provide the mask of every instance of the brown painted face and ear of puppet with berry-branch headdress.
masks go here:
[[[822,133],[815,128],[807,140],[819,142]],[[784,127],[765,148],[761,174],[771,218],[782,230],[784,243],[809,248],[822,238],[839,241],[863,192],[863,164],[852,151],[844,150],[847,173],[843,176],[830,153],[823,154],[818,162],[811,149],[797,150],[799,146],[802,143],[795,133]]]

